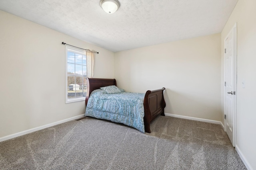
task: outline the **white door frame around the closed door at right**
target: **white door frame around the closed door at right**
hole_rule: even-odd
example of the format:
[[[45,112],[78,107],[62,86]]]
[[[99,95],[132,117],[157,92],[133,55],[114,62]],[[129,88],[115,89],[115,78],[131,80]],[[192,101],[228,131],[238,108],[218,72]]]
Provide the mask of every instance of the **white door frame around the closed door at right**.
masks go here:
[[[228,35],[230,35],[230,33],[233,32],[233,36],[234,36],[234,40],[233,43],[235,44],[233,47],[233,53],[234,53],[234,69],[235,69],[235,75],[234,75],[234,91],[236,92],[235,96],[235,101],[234,101],[234,124],[233,124],[233,147],[236,146],[236,112],[237,112],[237,108],[236,108],[236,102],[237,102],[237,23],[235,23],[235,25],[232,27],[232,29],[230,29]],[[224,39],[224,50],[226,49],[226,39],[228,38],[228,35],[226,35],[225,39]],[[224,53],[224,82],[226,82],[226,53]],[[224,115],[225,115],[225,110],[226,110],[226,87],[224,86]],[[226,132],[226,119],[224,119],[224,131]]]

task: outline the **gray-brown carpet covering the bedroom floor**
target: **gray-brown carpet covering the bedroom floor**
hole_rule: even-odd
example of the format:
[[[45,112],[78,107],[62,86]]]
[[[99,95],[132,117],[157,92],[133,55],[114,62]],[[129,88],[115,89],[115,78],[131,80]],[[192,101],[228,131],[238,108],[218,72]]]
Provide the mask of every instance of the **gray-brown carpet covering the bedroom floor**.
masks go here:
[[[152,133],[69,121],[0,143],[0,169],[246,169],[220,125],[159,116]]]

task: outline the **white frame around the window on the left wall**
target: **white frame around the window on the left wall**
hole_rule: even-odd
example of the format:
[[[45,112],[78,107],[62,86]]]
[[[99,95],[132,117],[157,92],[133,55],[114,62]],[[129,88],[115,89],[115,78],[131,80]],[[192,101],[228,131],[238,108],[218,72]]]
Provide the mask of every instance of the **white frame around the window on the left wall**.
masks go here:
[[[80,101],[85,101],[85,96],[84,97],[78,97],[78,98],[68,98],[68,52],[72,52],[72,53],[76,53],[76,54],[80,54],[80,55],[84,55],[86,56],[86,51],[82,50],[82,49],[77,49],[74,47],[68,47],[66,46],[66,92],[65,92],[65,96],[66,96],[66,104],[68,103],[73,103],[73,102],[80,102]],[[86,56],[86,61],[87,61],[87,56]],[[86,67],[87,67],[87,63],[86,63]],[[74,74],[74,76],[77,76],[76,74]],[[87,70],[86,70],[86,76],[80,76],[82,78],[87,78]]]

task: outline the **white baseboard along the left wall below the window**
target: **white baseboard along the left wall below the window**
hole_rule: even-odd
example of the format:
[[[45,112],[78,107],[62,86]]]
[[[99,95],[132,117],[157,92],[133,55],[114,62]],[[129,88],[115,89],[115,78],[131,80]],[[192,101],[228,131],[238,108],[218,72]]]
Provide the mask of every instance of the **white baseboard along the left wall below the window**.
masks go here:
[[[39,131],[39,130],[45,129],[45,128],[47,128],[47,127],[51,127],[51,126],[54,126],[54,125],[58,125],[58,124],[60,124],[60,123],[65,123],[65,122],[67,122],[67,121],[71,121],[71,120],[74,120],[74,119],[79,119],[79,118],[81,118],[81,117],[84,117],[84,114],[78,115],[78,116],[75,116],[75,117],[70,117],[70,118],[68,118],[68,119],[64,119],[64,120],[61,120],[61,121],[56,121],[56,122],[54,122],[54,123],[49,123],[49,124],[47,124],[47,125],[42,125],[42,126],[40,126],[40,127],[35,127],[35,128],[32,128],[32,129],[28,129],[28,130],[26,130],[26,131],[14,133],[14,134],[12,134],[12,135],[4,136],[4,137],[1,137],[1,138],[0,138],[0,142],[6,141],[6,140],[8,140],[8,139],[15,138],[15,137],[19,137],[19,136],[22,136],[22,135],[26,135],[26,134],[28,134],[28,133],[32,133],[32,132],[35,132],[35,131]]]

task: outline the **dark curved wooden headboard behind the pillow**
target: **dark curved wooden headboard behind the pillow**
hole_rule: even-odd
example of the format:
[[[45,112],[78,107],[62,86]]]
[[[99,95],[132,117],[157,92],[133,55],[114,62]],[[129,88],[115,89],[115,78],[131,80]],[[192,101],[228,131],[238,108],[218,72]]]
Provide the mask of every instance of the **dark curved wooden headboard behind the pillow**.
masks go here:
[[[85,106],[87,105],[90,94],[93,90],[99,89],[105,86],[116,86],[116,79],[108,79],[108,78],[87,78],[87,92],[85,98]]]

